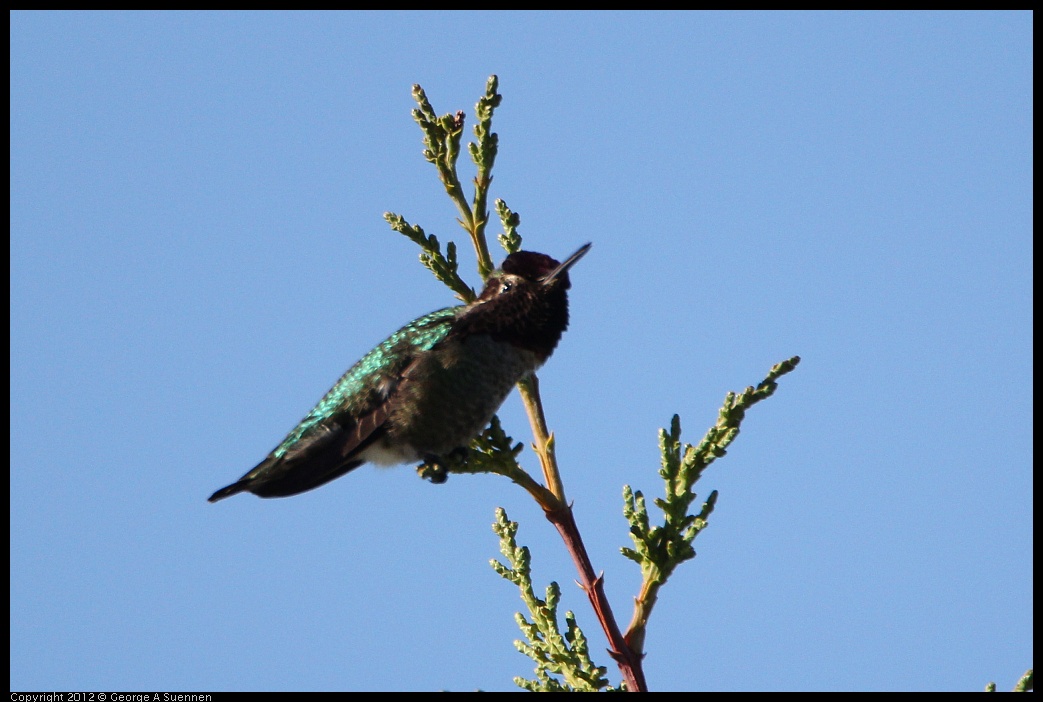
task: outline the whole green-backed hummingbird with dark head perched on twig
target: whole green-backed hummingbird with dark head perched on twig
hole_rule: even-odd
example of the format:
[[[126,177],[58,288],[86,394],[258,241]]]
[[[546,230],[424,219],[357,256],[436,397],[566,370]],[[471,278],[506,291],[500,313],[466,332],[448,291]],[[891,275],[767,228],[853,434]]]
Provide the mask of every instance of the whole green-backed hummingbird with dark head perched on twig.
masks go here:
[[[568,269],[515,251],[474,301],[409,322],[362,357],[252,470],[210,497],[286,498],[363,463],[438,464],[465,450],[568,326]]]

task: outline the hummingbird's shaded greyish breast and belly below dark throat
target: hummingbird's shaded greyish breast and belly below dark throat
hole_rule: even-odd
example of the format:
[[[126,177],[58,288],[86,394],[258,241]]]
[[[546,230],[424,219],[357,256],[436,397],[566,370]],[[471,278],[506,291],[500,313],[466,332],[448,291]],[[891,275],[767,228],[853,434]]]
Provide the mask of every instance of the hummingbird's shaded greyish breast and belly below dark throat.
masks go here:
[[[402,463],[466,446],[511,388],[541,363],[536,353],[475,334],[446,339],[403,377],[385,437],[366,459]]]

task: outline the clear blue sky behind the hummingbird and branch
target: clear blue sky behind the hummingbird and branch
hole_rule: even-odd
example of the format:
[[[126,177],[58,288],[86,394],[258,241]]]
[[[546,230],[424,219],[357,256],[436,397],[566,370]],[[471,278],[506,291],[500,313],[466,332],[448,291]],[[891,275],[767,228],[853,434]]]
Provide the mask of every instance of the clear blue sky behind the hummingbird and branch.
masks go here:
[[[697,486],[721,497],[650,687],[1032,665],[1029,14],[15,13],[10,39],[13,689],[513,689],[498,506],[618,679],[504,479],[207,503],[454,304],[385,211],[476,281],[410,87],[470,125],[492,73],[493,197],[527,248],[593,242],[540,381],[622,625],[657,429],[698,441],[803,358]],[[501,416],[528,439],[516,395]]]

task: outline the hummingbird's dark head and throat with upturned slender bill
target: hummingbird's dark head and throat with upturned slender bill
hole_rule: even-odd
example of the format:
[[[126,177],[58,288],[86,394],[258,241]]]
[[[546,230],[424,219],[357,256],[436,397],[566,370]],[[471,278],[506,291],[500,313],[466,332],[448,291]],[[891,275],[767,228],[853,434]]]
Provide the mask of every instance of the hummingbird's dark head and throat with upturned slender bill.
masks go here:
[[[568,326],[568,269],[589,250],[584,244],[564,263],[535,251],[511,253],[464,309],[462,331],[488,334],[547,360]]]

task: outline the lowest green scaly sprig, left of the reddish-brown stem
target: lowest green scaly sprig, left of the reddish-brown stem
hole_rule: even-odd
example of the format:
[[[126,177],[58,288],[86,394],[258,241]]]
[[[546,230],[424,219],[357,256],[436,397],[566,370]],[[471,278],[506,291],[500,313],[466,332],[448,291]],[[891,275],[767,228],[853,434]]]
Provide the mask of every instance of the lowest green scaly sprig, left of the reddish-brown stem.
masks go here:
[[[528,643],[516,640],[514,646],[536,662],[536,679],[516,677],[515,684],[532,693],[612,689],[605,678],[606,669],[595,665],[590,660],[586,636],[571,611],[565,612],[565,632],[561,633],[558,627],[558,602],[561,598],[558,583],[548,585],[544,600],[533,591],[529,549],[519,547],[515,540],[517,523],[510,522],[507,512],[498,508],[492,530],[500,537],[500,552],[509,565],[495,559],[489,564],[504,579],[517,585],[531,618],[528,620],[522,613],[514,615],[528,639]]]

